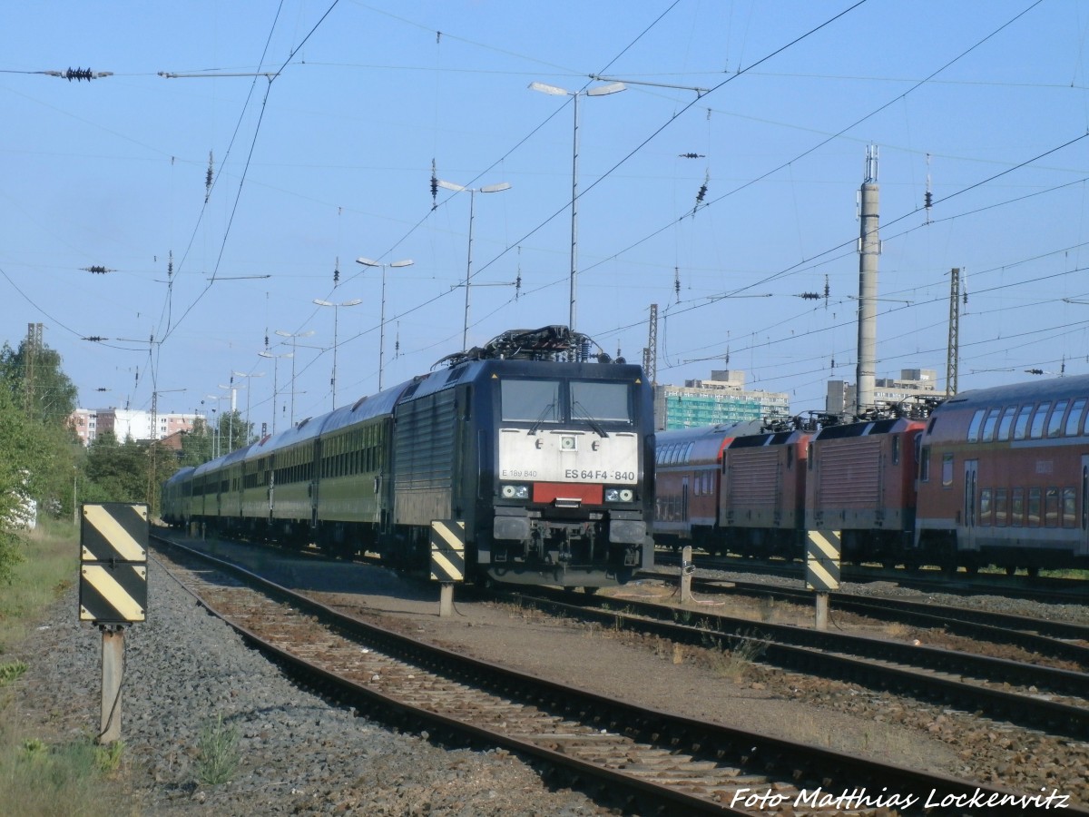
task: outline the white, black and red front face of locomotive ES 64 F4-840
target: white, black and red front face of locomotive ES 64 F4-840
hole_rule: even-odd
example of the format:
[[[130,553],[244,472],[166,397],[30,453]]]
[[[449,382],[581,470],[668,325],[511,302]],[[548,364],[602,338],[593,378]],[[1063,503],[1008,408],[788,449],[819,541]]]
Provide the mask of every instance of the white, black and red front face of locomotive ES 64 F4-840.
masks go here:
[[[488,572],[504,582],[625,582],[652,549],[641,370],[529,367],[498,377]]]

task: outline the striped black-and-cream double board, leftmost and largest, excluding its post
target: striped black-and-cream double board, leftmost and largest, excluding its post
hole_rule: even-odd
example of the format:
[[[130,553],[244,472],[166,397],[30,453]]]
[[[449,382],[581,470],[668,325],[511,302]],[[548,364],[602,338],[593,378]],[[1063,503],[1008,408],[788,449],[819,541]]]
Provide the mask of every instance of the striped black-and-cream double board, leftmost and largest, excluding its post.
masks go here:
[[[79,621],[147,620],[147,505],[84,504],[79,528]]]

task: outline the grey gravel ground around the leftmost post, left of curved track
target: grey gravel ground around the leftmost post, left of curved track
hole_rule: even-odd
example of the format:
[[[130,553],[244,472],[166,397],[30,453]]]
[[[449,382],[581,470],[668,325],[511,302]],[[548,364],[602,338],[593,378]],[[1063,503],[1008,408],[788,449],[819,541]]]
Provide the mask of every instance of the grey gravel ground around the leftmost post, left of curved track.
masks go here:
[[[148,621],[125,634],[122,737],[137,813],[598,813],[504,752],[445,751],[299,690],[155,562],[148,595]],[[29,664],[16,706],[60,737],[93,734],[100,716],[101,638],[76,609],[70,593],[13,656]],[[241,759],[230,782],[206,785],[201,730],[218,725],[237,731]]]

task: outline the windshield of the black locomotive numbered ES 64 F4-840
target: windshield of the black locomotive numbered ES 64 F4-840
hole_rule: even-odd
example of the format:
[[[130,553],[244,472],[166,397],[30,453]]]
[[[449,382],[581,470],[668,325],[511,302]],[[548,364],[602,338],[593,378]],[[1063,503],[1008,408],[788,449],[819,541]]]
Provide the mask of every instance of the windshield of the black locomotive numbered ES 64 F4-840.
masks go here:
[[[506,379],[500,391],[502,417],[535,424],[571,419],[632,423],[631,391],[625,382]]]

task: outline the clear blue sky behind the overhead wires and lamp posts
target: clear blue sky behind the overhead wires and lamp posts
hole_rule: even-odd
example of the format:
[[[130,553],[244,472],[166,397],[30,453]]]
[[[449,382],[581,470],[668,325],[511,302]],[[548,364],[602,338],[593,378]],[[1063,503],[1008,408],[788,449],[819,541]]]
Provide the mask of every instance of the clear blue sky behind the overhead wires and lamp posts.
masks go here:
[[[573,109],[527,86],[596,75],[628,81],[579,103],[577,328],[611,354],[641,361],[657,303],[660,382],[744,369],[822,407],[855,377],[874,144],[878,377],[944,389],[952,267],[962,390],[1082,374],[1087,27],[1080,0],[4,3],[4,340],[44,324],[87,407],[206,410],[264,373],[250,418],[276,380],[282,428],[293,364],[295,418],[332,406],[314,300],[362,300],[335,310],[337,403],[371,393],[381,272],[355,258],[412,258],[387,269],[383,381],[425,373],[462,345],[470,204],[432,209],[432,160],[511,184],[474,197],[470,345],[566,324]],[[70,68],[112,75],[35,73]],[[276,330],[314,334],[274,371]]]

